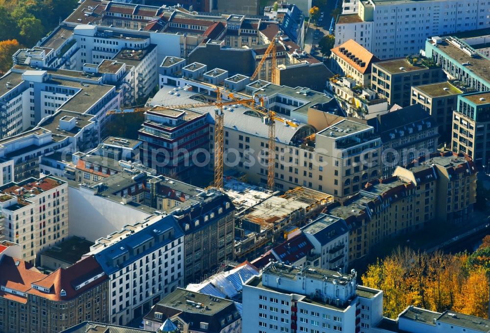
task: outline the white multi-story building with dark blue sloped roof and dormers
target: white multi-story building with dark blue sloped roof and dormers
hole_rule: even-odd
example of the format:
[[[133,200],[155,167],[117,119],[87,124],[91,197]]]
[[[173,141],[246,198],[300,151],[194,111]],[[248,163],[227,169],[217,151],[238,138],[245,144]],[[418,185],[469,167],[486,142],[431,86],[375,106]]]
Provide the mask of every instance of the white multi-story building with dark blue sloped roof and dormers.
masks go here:
[[[152,216],[100,238],[94,255],[110,278],[110,322],[126,325],[182,286],[184,234],[172,215]]]

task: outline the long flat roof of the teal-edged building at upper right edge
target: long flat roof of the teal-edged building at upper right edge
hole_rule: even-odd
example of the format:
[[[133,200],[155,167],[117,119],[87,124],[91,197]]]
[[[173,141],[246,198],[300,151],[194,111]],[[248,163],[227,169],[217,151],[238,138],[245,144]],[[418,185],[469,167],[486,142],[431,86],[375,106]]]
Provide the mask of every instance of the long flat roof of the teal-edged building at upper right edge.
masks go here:
[[[478,52],[472,57],[456,45],[449,43],[447,39],[443,39],[440,44],[437,44],[436,50],[445,53],[454,62],[459,64],[469,63],[469,65],[465,66],[466,70],[471,71],[472,75],[480,77],[490,84],[490,72],[488,71],[490,60],[488,58]]]

